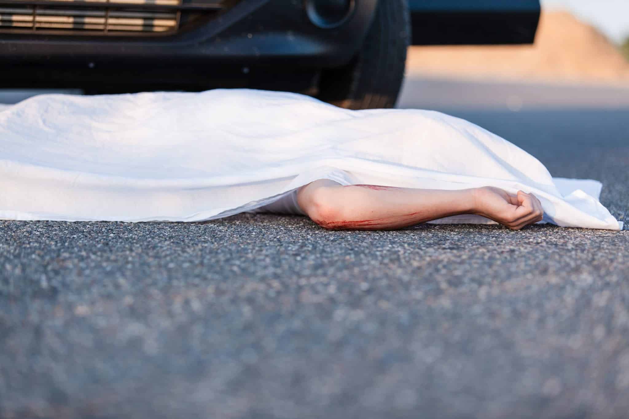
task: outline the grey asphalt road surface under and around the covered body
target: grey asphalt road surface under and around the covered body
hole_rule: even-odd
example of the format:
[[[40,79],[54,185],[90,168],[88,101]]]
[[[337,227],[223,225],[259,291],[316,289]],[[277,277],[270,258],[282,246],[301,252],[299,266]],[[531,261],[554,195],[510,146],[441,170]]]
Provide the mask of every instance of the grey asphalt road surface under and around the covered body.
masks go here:
[[[625,219],[629,90],[590,89],[411,80],[400,106]],[[628,393],[629,231],[0,221],[3,418],[605,419]]]

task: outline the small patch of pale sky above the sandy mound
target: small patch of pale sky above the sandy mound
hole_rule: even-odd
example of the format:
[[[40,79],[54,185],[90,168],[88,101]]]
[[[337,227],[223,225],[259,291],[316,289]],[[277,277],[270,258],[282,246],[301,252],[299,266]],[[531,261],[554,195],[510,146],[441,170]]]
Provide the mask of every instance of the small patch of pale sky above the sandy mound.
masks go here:
[[[542,0],[542,7],[569,9],[613,41],[629,36],[629,0]]]

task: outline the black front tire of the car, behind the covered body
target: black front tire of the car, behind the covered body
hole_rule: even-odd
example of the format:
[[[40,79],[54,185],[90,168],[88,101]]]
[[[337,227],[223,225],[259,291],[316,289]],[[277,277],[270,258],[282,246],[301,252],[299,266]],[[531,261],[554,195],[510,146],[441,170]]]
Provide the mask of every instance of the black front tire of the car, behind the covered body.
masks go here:
[[[406,0],[380,0],[356,57],[345,67],[321,71],[318,98],[347,109],[395,106],[410,38]]]

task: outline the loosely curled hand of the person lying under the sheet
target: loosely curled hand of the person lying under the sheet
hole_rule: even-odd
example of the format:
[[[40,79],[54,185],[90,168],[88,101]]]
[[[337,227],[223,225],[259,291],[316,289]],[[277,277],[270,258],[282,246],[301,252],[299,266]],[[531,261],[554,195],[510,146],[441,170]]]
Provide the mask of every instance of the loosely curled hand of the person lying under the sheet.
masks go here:
[[[475,191],[476,212],[513,230],[542,220],[540,200],[532,193],[518,190],[516,196],[494,187],[477,188]]]

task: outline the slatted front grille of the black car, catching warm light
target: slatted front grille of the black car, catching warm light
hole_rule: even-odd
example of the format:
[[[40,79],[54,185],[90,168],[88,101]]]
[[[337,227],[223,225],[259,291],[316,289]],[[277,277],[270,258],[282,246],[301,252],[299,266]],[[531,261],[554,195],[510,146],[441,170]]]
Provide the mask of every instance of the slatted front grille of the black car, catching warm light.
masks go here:
[[[0,0],[0,32],[169,35],[220,13],[232,0]]]

